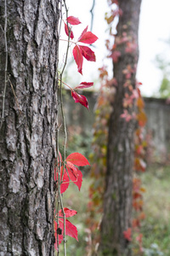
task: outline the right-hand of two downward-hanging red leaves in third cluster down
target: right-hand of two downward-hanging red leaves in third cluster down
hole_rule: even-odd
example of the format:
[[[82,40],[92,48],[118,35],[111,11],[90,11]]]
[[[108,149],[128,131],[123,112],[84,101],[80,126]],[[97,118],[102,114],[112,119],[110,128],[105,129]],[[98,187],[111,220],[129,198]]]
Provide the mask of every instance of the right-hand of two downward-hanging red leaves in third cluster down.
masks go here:
[[[71,162],[67,161],[66,163],[66,168],[71,181],[75,183],[80,190],[82,187],[82,172],[78,170],[77,167],[74,166]]]

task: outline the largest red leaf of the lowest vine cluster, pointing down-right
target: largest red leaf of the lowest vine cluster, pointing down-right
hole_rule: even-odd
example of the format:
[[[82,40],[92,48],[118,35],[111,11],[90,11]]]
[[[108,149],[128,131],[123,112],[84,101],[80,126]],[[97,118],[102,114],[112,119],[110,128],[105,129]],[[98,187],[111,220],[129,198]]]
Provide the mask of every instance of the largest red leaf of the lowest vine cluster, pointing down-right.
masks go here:
[[[59,228],[61,230],[64,230],[64,219],[59,218]],[[78,234],[77,234],[77,227],[73,224],[68,219],[65,219],[65,235],[66,236],[71,236],[78,241]]]

